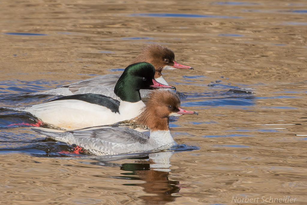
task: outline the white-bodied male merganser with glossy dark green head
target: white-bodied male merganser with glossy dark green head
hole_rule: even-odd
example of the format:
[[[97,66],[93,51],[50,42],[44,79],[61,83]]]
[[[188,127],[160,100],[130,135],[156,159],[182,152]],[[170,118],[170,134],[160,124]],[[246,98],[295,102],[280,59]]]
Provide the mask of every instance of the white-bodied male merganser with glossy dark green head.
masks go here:
[[[129,65],[115,85],[120,102],[100,94],[77,94],[14,110],[30,112],[44,123],[67,130],[113,124],[130,120],[141,113],[145,104],[140,89],[169,88],[154,79],[155,69],[150,63]]]

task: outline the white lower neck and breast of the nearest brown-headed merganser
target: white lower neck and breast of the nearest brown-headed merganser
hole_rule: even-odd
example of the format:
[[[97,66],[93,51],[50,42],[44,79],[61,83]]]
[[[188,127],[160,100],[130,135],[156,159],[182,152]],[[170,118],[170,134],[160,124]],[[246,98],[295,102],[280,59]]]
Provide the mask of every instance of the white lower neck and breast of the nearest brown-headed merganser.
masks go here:
[[[163,146],[173,146],[176,144],[171,133],[168,130],[150,130],[148,143],[152,144],[155,148]]]

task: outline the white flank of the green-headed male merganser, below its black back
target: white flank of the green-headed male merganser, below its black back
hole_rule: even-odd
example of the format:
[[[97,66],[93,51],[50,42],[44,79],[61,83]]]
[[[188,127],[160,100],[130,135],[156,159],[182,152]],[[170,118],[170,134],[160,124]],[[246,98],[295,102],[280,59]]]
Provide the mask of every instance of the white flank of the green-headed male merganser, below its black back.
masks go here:
[[[52,101],[33,105],[24,110],[40,118],[45,123],[68,130],[121,121],[119,113],[114,113],[104,106],[80,100]]]

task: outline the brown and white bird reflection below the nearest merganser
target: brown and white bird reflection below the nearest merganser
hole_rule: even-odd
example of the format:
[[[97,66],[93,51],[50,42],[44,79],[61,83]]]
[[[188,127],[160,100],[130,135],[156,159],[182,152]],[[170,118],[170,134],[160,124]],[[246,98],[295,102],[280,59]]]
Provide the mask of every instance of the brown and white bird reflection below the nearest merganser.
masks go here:
[[[90,164],[121,167],[121,170],[131,171],[122,173],[125,176],[113,176],[112,178],[144,181],[145,183],[129,183],[123,185],[143,187],[143,190],[149,195],[142,195],[139,198],[144,200],[146,204],[166,204],[175,201],[179,196],[174,196],[173,194],[179,193],[180,190],[179,181],[169,180],[169,171],[171,171],[169,169],[171,166],[169,164],[169,158],[172,155],[173,152],[126,155],[126,157],[122,155],[113,156],[113,159],[110,158],[108,160],[96,159],[99,162],[91,162]],[[124,158],[134,159],[135,162],[125,164],[107,162],[109,160],[121,160]]]

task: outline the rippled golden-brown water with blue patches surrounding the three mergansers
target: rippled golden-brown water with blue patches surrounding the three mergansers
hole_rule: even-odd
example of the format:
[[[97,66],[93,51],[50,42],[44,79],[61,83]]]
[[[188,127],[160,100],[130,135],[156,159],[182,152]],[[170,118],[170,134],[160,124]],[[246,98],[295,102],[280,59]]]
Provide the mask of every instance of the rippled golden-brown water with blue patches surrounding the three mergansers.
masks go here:
[[[305,204],[305,1],[4,0],[0,11],[1,203]],[[195,68],[163,73],[199,113],[172,119],[178,147],[76,154],[3,108],[121,73],[147,43]]]

